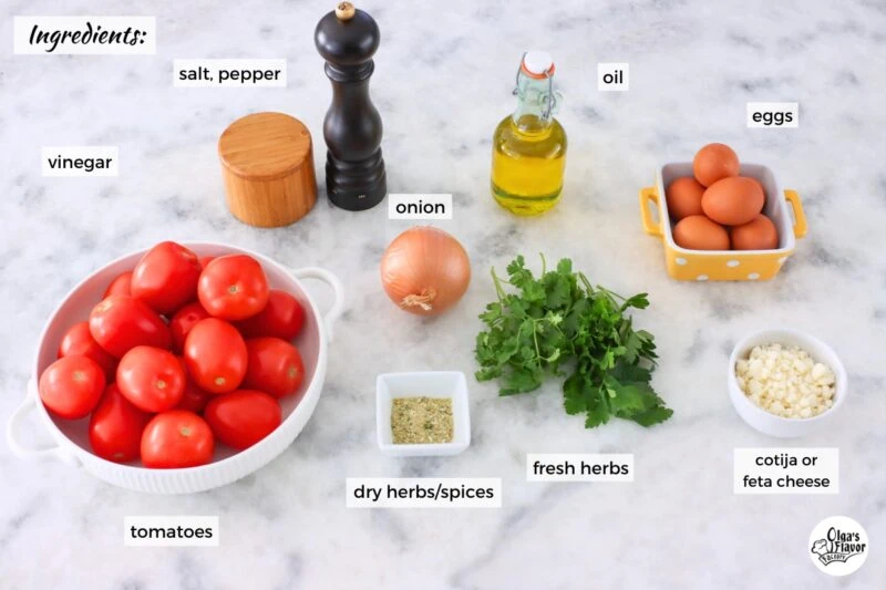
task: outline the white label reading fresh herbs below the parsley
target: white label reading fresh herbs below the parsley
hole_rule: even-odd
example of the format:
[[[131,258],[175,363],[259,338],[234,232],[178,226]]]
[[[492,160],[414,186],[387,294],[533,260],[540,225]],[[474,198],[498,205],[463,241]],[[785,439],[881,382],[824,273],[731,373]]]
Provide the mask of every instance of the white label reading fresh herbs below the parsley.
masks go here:
[[[633,454],[526,455],[527,482],[633,482]]]

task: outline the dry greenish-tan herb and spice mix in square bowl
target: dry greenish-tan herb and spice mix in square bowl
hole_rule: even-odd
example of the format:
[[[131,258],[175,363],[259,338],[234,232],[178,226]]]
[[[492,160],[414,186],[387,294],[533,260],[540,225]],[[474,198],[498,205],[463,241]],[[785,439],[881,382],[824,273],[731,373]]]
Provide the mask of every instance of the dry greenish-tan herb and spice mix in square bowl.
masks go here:
[[[392,400],[391,431],[394,444],[452,442],[452,400],[398,397]]]

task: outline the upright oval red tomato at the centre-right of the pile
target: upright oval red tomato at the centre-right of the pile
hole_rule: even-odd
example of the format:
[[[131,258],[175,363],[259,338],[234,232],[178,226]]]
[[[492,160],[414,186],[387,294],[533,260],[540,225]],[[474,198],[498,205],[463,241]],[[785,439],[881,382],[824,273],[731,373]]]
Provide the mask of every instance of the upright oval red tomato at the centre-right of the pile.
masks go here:
[[[200,320],[185,339],[187,373],[209,393],[236,390],[246,375],[246,342],[224,320]]]

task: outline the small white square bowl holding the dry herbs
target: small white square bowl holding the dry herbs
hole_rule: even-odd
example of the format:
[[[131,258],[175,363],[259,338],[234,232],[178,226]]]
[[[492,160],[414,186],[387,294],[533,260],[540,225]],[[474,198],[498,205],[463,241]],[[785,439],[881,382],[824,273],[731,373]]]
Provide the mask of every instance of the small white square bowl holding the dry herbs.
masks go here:
[[[391,407],[398,397],[442,397],[452,400],[452,442],[437,444],[394,444]],[[379,448],[393,457],[457,455],[471,444],[471,411],[467,380],[461,371],[382,373],[375,380],[375,428]]]

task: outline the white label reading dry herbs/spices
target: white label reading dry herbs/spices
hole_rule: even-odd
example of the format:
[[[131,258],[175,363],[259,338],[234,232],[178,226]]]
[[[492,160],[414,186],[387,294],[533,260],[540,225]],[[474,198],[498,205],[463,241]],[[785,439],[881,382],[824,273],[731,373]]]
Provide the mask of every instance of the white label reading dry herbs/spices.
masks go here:
[[[501,508],[499,477],[349,477],[348,508]]]

